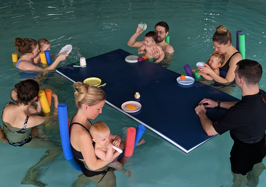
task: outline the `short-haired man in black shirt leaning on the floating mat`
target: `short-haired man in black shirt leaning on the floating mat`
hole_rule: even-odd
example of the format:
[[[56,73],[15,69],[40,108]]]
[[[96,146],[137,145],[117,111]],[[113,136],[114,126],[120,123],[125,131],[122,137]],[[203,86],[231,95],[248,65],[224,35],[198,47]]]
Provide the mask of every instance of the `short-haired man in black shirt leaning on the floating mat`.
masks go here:
[[[218,133],[221,135],[230,130],[230,135],[234,140],[230,152],[234,186],[246,186],[250,179],[253,181],[249,182],[253,184],[249,183],[249,185],[256,185],[258,176],[265,169],[261,162],[266,155],[266,92],[259,90],[258,87],[262,67],[253,60],[241,60],[237,63],[235,75],[236,85],[242,91],[241,101],[221,102],[203,99],[195,111],[209,136]],[[203,105],[204,103],[208,105]],[[228,110],[221,119],[213,123],[207,118],[205,108],[214,107]]]

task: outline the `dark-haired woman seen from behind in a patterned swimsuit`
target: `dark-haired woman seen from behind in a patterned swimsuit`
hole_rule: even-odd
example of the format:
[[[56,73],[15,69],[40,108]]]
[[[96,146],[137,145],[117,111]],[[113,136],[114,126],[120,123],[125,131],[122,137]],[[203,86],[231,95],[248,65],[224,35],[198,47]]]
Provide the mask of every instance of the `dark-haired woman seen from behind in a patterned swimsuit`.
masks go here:
[[[12,146],[47,150],[48,155],[45,155],[35,166],[31,167],[27,176],[21,182],[21,184],[45,186],[41,182],[35,180],[39,175],[39,171],[36,170],[36,168],[52,162],[55,156],[62,152],[62,149],[56,146],[52,141],[45,141],[43,138],[37,138],[37,136],[32,135],[32,128],[58,120],[57,96],[52,93],[55,104],[53,115],[41,117],[38,115],[31,115],[28,112],[31,103],[38,97],[39,84],[32,79],[27,79],[17,83],[15,88],[18,103],[6,103],[2,113],[3,132],[5,133],[8,143]]]

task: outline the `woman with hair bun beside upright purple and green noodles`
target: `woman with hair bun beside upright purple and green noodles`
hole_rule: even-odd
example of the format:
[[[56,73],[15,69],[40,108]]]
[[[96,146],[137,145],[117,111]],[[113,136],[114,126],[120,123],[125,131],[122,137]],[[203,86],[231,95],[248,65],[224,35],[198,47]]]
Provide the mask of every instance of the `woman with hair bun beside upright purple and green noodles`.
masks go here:
[[[225,62],[219,68],[220,76],[209,67],[210,59],[206,64],[204,63],[205,67],[197,66],[198,69],[202,73],[211,75],[216,82],[228,83],[234,81],[236,63],[242,60],[242,56],[232,46],[232,35],[223,25],[218,26],[213,34],[213,46],[215,49],[212,54],[219,53],[225,56]]]

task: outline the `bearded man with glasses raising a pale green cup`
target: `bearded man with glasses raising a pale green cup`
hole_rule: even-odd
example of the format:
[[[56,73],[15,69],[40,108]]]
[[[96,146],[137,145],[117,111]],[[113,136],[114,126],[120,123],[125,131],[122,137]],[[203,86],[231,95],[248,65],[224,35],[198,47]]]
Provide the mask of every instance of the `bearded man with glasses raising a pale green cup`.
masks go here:
[[[143,45],[143,40],[136,41],[136,39],[139,37],[140,34],[142,34],[143,31],[144,30],[138,27],[136,33],[133,34],[128,40],[127,45],[130,47],[141,47]],[[171,54],[174,52],[174,48],[169,43],[165,42],[165,37],[168,35],[168,31],[169,26],[164,21],[161,21],[155,25],[154,32],[158,35],[157,44],[163,49],[164,53]],[[149,54],[152,55],[154,58],[159,59],[160,53],[157,47],[153,48],[153,50],[151,50],[151,53]]]

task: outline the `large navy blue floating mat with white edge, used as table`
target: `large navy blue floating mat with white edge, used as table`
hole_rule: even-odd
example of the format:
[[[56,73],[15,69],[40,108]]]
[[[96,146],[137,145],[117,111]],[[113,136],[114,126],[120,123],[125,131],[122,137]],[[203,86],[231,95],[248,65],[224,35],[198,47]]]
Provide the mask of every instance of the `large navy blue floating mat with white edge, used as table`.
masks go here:
[[[101,87],[106,93],[106,103],[145,125],[186,153],[211,139],[203,130],[194,108],[203,98],[222,101],[238,101],[216,88],[195,81],[191,87],[181,87],[176,78],[180,74],[149,61],[128,63],[130,53],[118,49],[86,59],[87,67],[74,64],[57,68],[56,72],[72,82],[83,82],[97,77],[106,83]],[[135,92],[140,99],[134,98]],[[138,113],[126,113],[121,105],[126,101],[138,101],[142,108]],[[207,109],[207,116],[216,121],[226,109]]]

